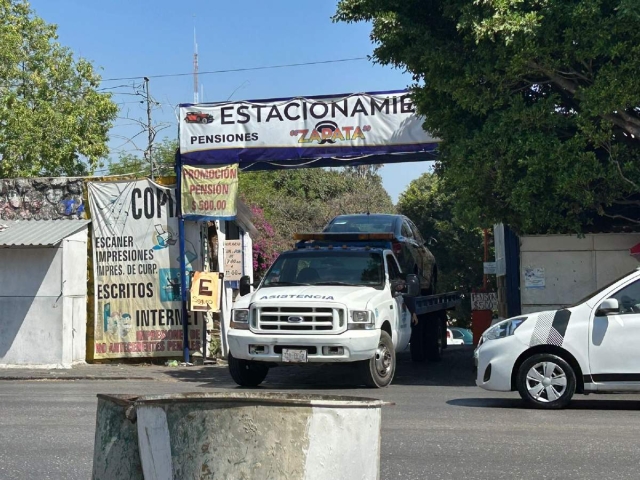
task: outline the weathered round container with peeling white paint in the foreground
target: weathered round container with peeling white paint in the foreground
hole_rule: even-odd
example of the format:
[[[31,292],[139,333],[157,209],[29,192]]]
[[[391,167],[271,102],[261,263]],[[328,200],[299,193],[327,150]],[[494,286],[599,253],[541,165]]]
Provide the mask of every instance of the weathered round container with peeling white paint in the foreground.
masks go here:
[[[380,400],[234,392],[134,405],[145,480],[379,478]]]

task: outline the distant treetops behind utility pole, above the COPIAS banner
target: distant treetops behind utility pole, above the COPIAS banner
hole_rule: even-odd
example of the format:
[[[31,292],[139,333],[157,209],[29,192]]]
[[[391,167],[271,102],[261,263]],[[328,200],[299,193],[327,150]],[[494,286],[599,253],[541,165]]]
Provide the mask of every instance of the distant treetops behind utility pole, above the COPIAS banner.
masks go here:
[[[175,155],[178,149],[178,141],[165,138],[162,142],[153,146],[153,170],[156,176],[165,177],[175,175]],[[151,174],[151,165],[147,159],[134,153],[122,153],[118,160],[109,160],[107,166],[109,175],[135,174],[148,176]]]

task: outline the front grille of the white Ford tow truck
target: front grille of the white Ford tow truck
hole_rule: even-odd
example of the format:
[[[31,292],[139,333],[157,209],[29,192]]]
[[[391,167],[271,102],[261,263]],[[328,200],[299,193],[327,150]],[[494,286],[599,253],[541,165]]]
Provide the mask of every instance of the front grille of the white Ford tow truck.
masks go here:
[[[345,312],[332,307],[271,307],[253,309],[252,326],[262,332],[331,333],[343,329]]]

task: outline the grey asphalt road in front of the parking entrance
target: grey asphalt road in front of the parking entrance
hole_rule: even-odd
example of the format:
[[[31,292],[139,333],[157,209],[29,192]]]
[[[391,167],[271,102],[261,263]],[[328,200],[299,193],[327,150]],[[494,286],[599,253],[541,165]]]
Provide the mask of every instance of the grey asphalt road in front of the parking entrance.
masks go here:
[[[348,368],[276,369],[271,390],[374,396],[383,412],[383,479],[638,478],[640,397],[577,397],[570,409],[521,408],[515,394],[473,386],[468,349],[440,364],[402,355],[394,385],[353,389]],[[88,479],[96,393],[170,393],[235,388],[226,371],[166,381],[1,381],[0,479]],[[266,480],[266,479],[265,479]]]

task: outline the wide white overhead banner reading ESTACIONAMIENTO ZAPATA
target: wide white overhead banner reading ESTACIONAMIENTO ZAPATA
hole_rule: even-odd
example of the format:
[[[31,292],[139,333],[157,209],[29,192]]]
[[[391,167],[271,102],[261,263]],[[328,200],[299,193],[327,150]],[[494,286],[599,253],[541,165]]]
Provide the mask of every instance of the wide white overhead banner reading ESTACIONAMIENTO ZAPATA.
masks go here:
[[[183,164],[244,168],[255,162],[287,166],[302,165],[303,159],[431,152],[439,140],[422,123],[407,91],[185,104],[180,155]]]

